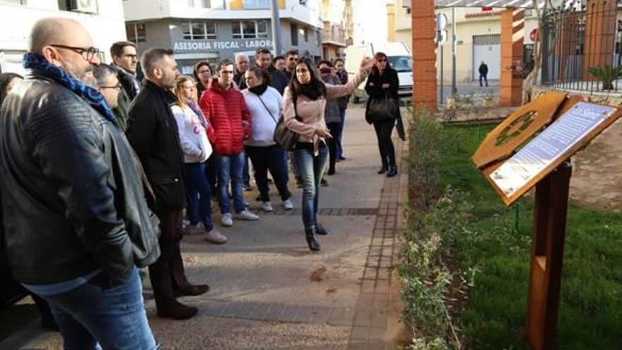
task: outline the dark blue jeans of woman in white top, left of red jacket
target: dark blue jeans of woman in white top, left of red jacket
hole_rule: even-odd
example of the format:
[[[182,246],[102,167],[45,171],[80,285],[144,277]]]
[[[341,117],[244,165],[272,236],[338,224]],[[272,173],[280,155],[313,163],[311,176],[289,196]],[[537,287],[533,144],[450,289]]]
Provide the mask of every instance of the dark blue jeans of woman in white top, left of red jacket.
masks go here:
[[[205,163],[187,163],[186,193],[188,195],[188,218],[191,225],[203,223],[206,231],[213,229],[211,221],[211,188],[205,175]]]

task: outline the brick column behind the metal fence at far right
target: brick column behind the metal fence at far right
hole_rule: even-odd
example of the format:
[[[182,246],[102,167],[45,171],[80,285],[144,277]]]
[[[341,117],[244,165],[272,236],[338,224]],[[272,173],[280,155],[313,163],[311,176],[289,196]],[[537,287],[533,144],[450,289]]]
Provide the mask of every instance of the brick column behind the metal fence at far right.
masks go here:
[[[587,69],[613,64],[616,42],[616,6],[614,0],[588,0],[585,15],[585,46],[583,49],[583,79],[597,80]]]

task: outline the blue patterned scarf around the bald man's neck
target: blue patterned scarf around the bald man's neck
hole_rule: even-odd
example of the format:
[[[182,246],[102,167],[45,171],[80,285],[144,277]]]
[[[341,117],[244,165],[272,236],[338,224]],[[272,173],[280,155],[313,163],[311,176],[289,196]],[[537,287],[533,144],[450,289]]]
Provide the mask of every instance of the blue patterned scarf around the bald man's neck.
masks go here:
[[[86,100],[95,110],[100,112],[106,119],[110,120],[110,122],[114,122],[115,113],[110,110],[108,107],[106,100],[102,94],[87,86],[82,81],[76,80],[73,78],[64,69],[60,67],[54,66],[53,64],[47,62],[47,59],[42,57],[40,54],[35,54],[33,52],[28,52],[24,55],[23,59],[24,68],[28,69],[36,69],[38,71],[45,71],[45,74],[50,78],[54,79],[57,83],[62,86],[68,88],[74,93],[77,93],[81,98]]]

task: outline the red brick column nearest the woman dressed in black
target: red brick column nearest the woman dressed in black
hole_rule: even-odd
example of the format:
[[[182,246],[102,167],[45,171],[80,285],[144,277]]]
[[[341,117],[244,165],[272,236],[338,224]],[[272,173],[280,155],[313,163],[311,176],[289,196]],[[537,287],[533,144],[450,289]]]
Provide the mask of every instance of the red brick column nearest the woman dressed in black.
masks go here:
[[[436,109],[436,15],[434,0],[412,1],[413,105]]]

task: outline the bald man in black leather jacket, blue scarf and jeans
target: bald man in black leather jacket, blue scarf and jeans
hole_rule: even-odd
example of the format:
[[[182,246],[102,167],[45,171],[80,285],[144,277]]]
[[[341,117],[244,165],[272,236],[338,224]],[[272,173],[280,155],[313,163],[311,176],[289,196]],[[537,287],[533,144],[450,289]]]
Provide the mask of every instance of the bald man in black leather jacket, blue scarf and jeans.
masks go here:
[[[0,110],[11,272],[49,303],[65,349],[155,349],[136,267],[160,254],[157,220],[110,107],[81,80],[99,51],[62,18],[38,21],[29,44]]]

